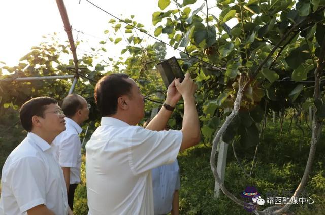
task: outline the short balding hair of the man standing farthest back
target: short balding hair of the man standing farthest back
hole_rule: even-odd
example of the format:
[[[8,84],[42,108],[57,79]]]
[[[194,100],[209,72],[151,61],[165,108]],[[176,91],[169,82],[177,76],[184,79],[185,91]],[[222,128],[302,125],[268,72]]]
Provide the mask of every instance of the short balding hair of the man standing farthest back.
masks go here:
[[[63,99],[60,106],[64,112],[64,115],[69,118],[73,117],[79,109],[83,108],[80,97],[77,94],[67,95]]]

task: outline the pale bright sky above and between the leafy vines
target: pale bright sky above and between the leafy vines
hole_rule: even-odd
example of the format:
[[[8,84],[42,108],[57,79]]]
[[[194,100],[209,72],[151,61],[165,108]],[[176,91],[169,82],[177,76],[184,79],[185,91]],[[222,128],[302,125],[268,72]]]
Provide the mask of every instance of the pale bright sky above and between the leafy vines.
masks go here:
[[[90,1],[121,18],[135,15],[134,19],[145,25],[144,28],[149,32],[153,32],[155,29],[151,23],[152,13],[161,11],[158,7],[158,0]],[[193,9],[198,8],[203,2],[198,1],[196,5],[192,5]],[[209,0],[209,7],[215,6],[215,2]],[[104,34],[104,30],[109,29],[108,21],[113,17],[95,8],[86,0],[81,0],[80,4],[79,0],[66,0],[64,4],[70,24],[74,29],[74,39],[87,41],[83,46],[77,47],[77,56],[80,58],[83,53],[91,51],[90,47],[98,47],[99,41],[106,40],[107,35]],[[43,35],[56,32],[60,40],[67,40],[55,0],[0,1],[0,9],[0,61],[5,62],[8,66],[17,65],[19,59],[27,54],[32,46],[37,46],[45,41],[46,39],[42,38]],[[141,33],[138,34],[141,35]],[[167,37],[164,38],[161,35],[159,39],[168,42]],[[127,36],[128,34],[125,35],[125,37]],[[143,37],[144,39],[148,38],[144,34]],[[154,43],[154,40],[149,40],[149,42]],[[121,47],[125,45],[126,41],[122,40],[119,46],[111,44],[105,48],[108,55],[116,59],[120,56]],[[168,48],[166,58],[177,54],[178,52]]]

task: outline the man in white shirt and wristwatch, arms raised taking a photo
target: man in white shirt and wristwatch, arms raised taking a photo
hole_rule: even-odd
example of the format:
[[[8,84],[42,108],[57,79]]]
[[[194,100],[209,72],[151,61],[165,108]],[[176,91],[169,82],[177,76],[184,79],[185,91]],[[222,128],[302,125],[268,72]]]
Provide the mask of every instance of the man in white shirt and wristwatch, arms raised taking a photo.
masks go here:
[[[95,88],[101,126],[86,144],[86,180],[91,215],[152,215],[151,169],[172,163],[179,150],[200,141],[194,92],[196,84],[185,75],[168,87],[163,108],[146,129],[137,126],[144,117],[144,96],[126,74],[103,77]],[[173,107],[183,97],[180,131],[163,131]]]

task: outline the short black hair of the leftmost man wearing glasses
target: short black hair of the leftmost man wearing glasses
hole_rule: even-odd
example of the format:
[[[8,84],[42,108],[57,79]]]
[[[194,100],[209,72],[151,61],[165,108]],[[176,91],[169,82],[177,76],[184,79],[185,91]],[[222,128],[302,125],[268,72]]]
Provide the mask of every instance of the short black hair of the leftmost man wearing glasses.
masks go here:
[[[49,104],[57,104],[57,101],[50,97],[37,97],[26,101],[19,111],[22,127],[30,132],[32,130],[31,118],[33,116],[43,117],[44,110],[46,109],[45,106]]]

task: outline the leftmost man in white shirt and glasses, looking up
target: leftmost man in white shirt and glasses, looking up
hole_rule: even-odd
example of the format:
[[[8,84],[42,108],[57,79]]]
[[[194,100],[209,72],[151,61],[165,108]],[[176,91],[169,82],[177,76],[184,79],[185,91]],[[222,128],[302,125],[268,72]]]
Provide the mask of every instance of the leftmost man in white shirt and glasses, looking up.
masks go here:
[[[2,169],[0,214],[72,214],[54,138],[66,129],[55,99],[33,98],[20,109],[27,137],[10,153]]]

